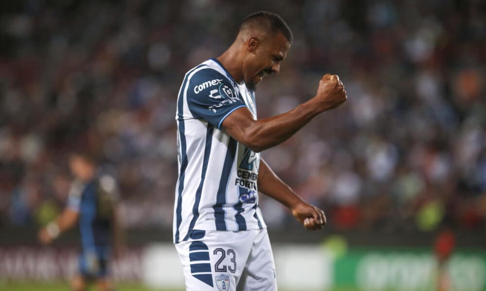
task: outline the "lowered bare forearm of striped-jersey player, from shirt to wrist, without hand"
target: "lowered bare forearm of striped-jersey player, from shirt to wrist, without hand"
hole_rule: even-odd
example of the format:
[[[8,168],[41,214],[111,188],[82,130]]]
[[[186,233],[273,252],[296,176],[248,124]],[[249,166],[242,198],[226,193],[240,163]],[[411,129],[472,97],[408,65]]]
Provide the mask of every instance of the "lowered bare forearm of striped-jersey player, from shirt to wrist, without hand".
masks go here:
[[[289,209],[303,203],[303,200],[295,194],[289,185],[278,178],[263,159],[260,160],[258,189],[261,193],[274,198]]]

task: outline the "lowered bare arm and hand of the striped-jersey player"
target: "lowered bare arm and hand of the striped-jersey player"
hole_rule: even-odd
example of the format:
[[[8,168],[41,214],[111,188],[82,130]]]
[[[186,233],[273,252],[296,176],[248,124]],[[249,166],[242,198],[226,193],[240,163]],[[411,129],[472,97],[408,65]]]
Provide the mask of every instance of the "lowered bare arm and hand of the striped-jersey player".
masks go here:
[[[302,200],[263,159],[260,159],[258,190],[285,205],[305,228],[316,230],[326,224],[324,211]]]

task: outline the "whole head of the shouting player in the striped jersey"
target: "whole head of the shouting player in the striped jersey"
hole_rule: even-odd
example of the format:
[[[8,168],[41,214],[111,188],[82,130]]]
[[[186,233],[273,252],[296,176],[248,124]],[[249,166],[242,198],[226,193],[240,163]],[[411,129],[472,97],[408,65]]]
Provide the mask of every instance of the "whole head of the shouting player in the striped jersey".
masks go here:
[[[253,90],[263,77],[280,71],[293,36],[280,16],[260,11],[243,19],[237,41],[244,51],[243,80]]]

